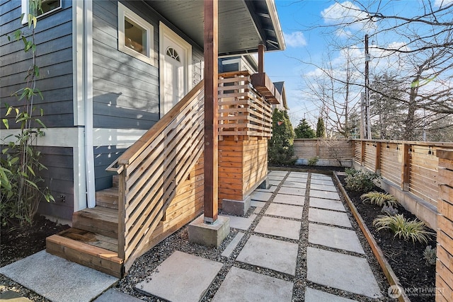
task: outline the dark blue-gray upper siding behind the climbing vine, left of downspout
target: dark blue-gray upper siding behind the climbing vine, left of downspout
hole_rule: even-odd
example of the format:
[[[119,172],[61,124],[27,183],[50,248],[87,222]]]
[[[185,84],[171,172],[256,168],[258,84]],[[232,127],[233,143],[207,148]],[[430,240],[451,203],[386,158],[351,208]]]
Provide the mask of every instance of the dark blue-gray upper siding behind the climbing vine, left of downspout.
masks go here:
[[[50,16],[38,19],[35,30],[35,43],[37,45],[36,64],[40,67],[40,78],[36,81],[44,100],[38,96],[34,98],[34,115],[44,116],[40,120],[47,127],[72,127],[74,125],[74,108],[72,103],[72,8],[71,1],[64,0],[63,8]],[[1,33],[12,35],[22,26],[21,1],[3,1],[0,6]],[[23,51],[22,41],[8,41],[5,35],[0,37],[0,95],[1,112],[5,112],[5,104],[20,106],[12,94],[25,87],[26,71],[32,64],[30,54]],[[14,123],[13,118],[8,119],[11,128],[20,127]],[[3,127],[3,126],[0,126]]]

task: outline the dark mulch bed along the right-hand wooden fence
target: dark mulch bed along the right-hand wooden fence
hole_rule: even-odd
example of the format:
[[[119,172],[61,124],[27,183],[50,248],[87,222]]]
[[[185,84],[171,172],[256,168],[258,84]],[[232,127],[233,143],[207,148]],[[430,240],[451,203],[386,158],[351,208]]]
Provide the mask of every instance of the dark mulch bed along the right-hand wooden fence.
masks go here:
[[[345,176],[338,176],[343,187],[346,186]],[[412,241],[403,241],[395,238],[394,234],[389,230],[376,231],[372,225],[372,221],[382,215],[382,208],[374,204],[365,204],[360,200],[362,193],[351,192],[346,189],[352,203],[357,208],[360,216],[367,225],[367,228],[374,236],[379,248],[394,270],[396,277],[401,281],[401,286],[406,289],[408,298],[411,301],[435,301],[433,294],[420,294],[420,291],[429,291],[435,289],[435,265],[428,265],[423,258],[423,251],[426,246],[424,243],[412,243]],[[378,192],[384,192],[379,187]],[[403,214],[408,219],[415,219],[416,216],[411,212],[406,211],[403,207],[398,207],[398,214]],[[429,229],[432,233],[434,230]],[[432,248],[436,246],[436,237],[432,236],[432,240],[428,242]],[[418,293],[417,293],[418,291]]]

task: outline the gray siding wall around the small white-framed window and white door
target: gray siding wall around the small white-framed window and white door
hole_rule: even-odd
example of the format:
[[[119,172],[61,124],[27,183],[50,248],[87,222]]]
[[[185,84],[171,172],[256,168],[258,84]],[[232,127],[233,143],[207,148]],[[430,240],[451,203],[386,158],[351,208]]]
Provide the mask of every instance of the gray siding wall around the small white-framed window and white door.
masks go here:
[[[159,120],[159,21],[142,1],[121,1],[154,28],[154,63],[118,50],[117,2],[93,1],[93,148],[96,191],[112,185],[105,171],[128,146]],[[171,26],[171,24],[166,23]],[[184,38],[183,33],[172,28]],[[203,54],[193,45],[192,79],[202,79]]]

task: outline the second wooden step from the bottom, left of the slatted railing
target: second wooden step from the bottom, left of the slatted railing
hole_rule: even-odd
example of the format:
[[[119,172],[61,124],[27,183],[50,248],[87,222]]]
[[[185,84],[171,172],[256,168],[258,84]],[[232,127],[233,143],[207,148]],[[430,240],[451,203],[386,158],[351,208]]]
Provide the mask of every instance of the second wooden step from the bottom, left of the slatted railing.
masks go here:
[[[72,214],[72,226],[110,238],[118,238],[118,211],[105,207],[83,209]]]

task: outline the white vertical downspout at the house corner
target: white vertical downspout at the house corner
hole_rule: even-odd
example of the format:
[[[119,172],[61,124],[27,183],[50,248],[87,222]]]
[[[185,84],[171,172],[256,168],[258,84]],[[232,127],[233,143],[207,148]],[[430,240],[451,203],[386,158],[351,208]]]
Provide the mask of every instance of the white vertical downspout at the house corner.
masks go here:
[[[85,100],[85,166],[88,208],[96,206],[93,153],[93,1],[84,5],[84,100]]]

